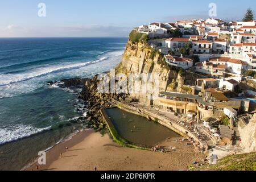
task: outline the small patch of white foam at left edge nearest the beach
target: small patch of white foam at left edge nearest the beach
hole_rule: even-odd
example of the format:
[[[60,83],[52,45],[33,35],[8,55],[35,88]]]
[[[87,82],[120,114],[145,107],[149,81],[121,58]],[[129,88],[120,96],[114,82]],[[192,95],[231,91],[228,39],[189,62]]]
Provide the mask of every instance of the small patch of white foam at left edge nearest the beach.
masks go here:
[[[0,144],[12,142],[18,139],[29,137],[31,135],[40,133],[45,130],[49,130],[51,127],[45,127],[42,129],[25,126],[25,125],[11,125],[5,128],[0,128]]]

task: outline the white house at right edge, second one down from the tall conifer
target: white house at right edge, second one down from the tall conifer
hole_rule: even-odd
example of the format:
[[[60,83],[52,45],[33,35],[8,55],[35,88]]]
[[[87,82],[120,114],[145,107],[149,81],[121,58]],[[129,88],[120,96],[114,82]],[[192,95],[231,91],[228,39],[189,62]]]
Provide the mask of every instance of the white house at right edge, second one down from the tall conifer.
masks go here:
[[[256,35],[251,33],[237,33],[232,32],[230,38],[231,44],[239,44],[239,43],[255,43]]]

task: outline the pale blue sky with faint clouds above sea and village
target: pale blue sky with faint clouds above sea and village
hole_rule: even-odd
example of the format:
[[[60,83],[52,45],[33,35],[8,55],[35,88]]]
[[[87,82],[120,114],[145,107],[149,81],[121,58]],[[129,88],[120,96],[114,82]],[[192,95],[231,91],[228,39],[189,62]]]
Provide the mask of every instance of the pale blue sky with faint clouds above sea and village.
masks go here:
[[[39,3],[46,16],[38,16]],[[217,17],[241,20],[246,9],[256,13],[255,0],[0,0],[0,37],[128,36],[133,27],[150,22]]]

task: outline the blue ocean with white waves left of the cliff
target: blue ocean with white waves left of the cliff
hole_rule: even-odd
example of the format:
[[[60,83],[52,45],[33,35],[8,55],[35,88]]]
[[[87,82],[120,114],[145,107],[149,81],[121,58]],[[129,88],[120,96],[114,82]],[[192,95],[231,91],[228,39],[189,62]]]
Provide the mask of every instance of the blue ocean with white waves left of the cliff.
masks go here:
[[[84,126],[80,90],[47,85],[92,77],[120,61],[127,38],[0,39],[0,170],[19,170]]]

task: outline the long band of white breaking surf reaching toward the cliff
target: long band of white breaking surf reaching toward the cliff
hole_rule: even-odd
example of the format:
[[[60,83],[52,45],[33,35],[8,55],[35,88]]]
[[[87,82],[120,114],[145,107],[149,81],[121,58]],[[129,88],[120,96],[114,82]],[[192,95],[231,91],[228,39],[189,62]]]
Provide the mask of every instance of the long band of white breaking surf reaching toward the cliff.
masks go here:
[[[123,51],[112,51],[98,56],[98,60],[93,62],[77,63],[79,65],[68,64],[38,68],[31,70],[30,76],[26,75],[28,73],[10,74],[10,77],[0,75],[0,85],[2,84],[2,86],[0,86],[0,98],[14,97],[19,94],[33,92],[45,86],[46,82],[49,80],[55,81],[62,77],[92,77],[98,73],[109,71],[121,61],[122,54]],[[40,75],[42,73],[44,75]],[[13,82],[13,84],[8,84],[10,82]],[[56,87],[57,85],[52,85],[49,88]]]

